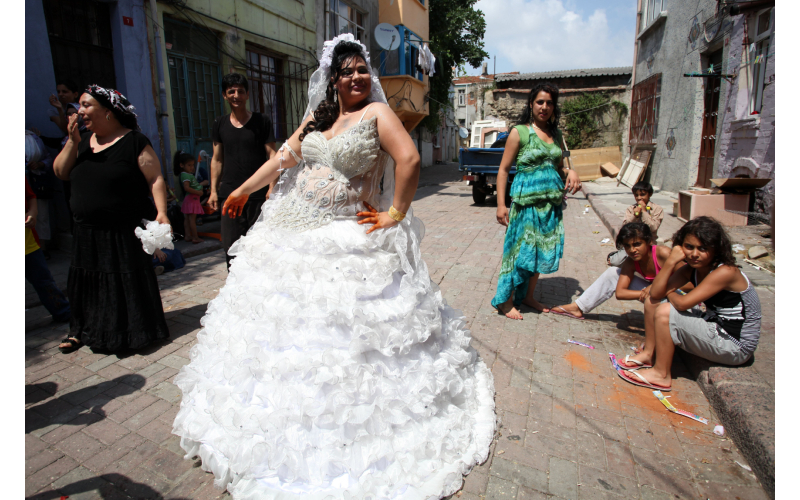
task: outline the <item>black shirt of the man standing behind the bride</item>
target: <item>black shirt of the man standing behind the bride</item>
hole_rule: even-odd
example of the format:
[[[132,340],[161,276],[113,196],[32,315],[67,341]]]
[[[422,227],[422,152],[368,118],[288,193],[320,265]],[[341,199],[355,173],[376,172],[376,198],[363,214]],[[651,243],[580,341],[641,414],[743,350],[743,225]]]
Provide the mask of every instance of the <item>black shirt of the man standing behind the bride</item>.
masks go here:
[[[236,128],[228,114],[214,121],[211,140],[222,144],[222,179],[217,191],[222,200],[267,161],[264,145],[275,142],[275,135],[272,121],[266,115],[253,113],[242,128]],[[269,186],[264,187],[251,194],[250,199],[264,200],[268,190]]]

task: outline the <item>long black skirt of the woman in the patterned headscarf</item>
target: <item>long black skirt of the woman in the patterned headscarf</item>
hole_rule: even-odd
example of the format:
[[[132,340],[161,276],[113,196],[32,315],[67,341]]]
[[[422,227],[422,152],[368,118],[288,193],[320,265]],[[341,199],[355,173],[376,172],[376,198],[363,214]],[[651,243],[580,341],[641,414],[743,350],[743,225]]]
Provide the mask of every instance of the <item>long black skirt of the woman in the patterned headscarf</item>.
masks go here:
[[[70,336],[89,347],[141,349],[169,337],[152,256],[134,227],[75,224],[67,293]]]

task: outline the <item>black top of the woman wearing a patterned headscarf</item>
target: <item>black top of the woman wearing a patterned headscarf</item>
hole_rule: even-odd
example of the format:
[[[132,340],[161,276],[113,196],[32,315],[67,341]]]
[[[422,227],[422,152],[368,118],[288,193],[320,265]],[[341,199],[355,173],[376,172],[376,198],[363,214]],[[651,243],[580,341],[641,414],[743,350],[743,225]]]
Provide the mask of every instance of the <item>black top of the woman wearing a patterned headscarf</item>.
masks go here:
[[[78,159],[69,173],[70,207],[75,222],[114,229],[136,226],[142,219],[154,220],[156,207],[150,200],[147,179],[139,169],[139,155],[150,140],[132,130],[94,153],[89,147],[91,137],[92,132],[81,134]]]

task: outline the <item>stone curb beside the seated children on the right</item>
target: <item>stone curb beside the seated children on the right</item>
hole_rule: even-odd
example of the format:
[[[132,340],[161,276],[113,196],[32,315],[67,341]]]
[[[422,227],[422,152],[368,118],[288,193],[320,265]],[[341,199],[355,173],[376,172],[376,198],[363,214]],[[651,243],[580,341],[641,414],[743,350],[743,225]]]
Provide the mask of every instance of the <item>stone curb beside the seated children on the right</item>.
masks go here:
[[[622,227],[619,216],[596,194],[585,187],[581,190],[615,239]],[[764,491],[775,498],[775,391],[751,377],[746,368],[718,366],[683,350],[677,351]]]

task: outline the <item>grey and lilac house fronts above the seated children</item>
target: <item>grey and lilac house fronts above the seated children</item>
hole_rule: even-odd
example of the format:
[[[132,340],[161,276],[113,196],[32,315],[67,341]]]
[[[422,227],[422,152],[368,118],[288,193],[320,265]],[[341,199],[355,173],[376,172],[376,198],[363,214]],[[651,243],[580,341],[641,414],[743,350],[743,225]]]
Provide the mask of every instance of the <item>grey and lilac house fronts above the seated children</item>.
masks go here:
[[[653,185],[774,179],[773,26],[774,2],[641,0],[628,145],[652,150]],[[753,200],[767,211],[774,182]]]

